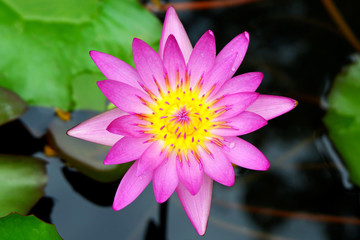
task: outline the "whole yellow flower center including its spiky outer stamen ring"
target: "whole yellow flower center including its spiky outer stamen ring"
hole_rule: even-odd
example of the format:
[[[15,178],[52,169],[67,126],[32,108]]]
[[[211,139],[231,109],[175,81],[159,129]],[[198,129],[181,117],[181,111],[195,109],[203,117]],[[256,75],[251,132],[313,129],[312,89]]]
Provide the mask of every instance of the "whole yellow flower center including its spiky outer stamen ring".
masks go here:
[[[225,123],[214,120],[221,113],[219,108],[213,107],[219,100],[208,100],[211,91],[200,95],[201,85],[192,89],[178,83],[175,90],[168,86],[166,93],[159,88],[160,96],[155,97],[144,89],[154,100],[151,104],[146,103],[153,113],[139,115],[149,122],[149,125],[143,126],[144,132],[151,135],[149,141],[164,141],[163,149],[167,149],[168,154],[175,151],[180,158],[187,157],[189,152],[197,157],[197,147],[206,150],[206,141],[223,146],[223,139],[210,131],[223,127]]]

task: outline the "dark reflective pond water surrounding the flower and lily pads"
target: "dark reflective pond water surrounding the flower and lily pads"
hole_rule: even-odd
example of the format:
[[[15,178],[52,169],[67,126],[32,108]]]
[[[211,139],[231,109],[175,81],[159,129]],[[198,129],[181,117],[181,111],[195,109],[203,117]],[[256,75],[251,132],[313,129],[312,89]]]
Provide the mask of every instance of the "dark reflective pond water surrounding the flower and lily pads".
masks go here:
[[[360,2],[335,3],[360,36]],[[218,50],[248,31],[250,47],[238,73],[262,71],[265,77],[259,92],[299,100],[292,112],[244,136],[268,157],[270,170],[238,168],[233,187],[215,183],[208,229],[199,237],[176,194],[160,207],[151,185],[133,204],[113,211],[119,181],[99,183],[67,167],[60,158],[45,157],[42,151],[48,138],[43,133],[59,120],[52,110],[33,108],[22,121],[0,128],[7,139],[0,146],[2,153],[35,155],[49,163],[45,197],[32,213],[54,223],[66,240],[360,239],[359,191],[348,180],[322,123],[326,92],[355,50],[321,1],[263,0],[184,11],[179,16],[193,43],[212,29]],[[85,114],[76,116],[80,119]],[[71,127],[74,122],[67,124]]]

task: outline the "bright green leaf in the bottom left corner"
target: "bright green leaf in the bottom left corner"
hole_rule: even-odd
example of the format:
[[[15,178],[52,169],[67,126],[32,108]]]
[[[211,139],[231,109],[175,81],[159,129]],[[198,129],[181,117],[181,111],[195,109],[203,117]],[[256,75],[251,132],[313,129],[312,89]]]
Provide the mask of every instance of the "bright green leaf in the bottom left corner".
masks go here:
[[[0,218],[0,239],[6,240],[55,240],[61,239],[56,227],[34,215],[21,216],[12,213]]]

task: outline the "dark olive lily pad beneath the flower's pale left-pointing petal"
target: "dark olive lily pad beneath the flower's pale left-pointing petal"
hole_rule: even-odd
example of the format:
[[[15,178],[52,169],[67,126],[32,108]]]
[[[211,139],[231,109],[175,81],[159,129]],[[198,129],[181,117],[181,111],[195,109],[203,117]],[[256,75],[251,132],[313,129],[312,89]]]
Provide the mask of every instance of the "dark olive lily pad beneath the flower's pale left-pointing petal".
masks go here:
[[[57,154],[69,166],[96,181],[112,182],[124,176],[131,163],[104,165],[103,161],[110,147],[66,135],[68,129],[96,114],[80,110],[72,114],[70,121],[55,119],[49,127],[49,140]]]

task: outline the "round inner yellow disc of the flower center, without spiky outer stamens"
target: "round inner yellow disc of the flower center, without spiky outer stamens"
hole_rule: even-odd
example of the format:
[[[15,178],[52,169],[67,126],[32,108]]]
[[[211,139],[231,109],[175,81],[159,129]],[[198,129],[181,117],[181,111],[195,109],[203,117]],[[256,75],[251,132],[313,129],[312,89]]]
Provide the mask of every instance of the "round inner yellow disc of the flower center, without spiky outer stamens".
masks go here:
[[[211,136],[211,110],[193,92],[170,93],[159,100],[149,119],[152,134],[167,147],[187,152]]]

